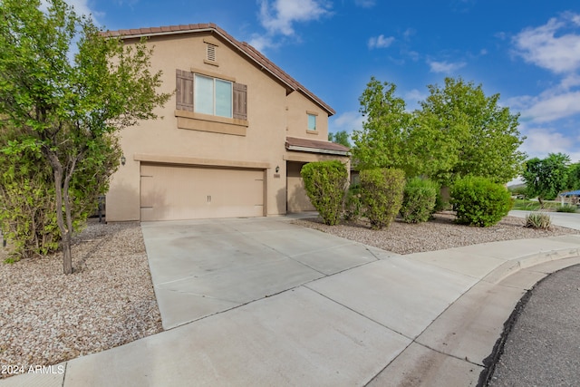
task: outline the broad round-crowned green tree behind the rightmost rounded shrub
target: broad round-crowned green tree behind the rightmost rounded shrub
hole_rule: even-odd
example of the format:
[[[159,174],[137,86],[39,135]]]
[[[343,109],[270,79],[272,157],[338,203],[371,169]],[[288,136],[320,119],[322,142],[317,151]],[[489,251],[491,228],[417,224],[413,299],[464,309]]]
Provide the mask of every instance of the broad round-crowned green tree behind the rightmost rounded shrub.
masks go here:
[[[468,175],[507,183],[525,160],[518,150],[524,138],[518,114],[498,104],[499,94],[486,96],[481,84],[446,78],[445,86],[428,86],[411,134],[411,154],[420,174],[443,185]]]

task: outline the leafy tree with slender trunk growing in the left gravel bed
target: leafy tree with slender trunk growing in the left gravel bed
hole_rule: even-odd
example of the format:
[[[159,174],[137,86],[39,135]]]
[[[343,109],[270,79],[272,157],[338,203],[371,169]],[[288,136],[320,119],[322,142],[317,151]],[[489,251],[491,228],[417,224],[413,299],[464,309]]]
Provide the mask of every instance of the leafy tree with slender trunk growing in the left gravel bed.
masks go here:
[[[144,42],[108,38],[63,0],[49,0],[46,13],[40,8],[40,0],[0,2],[0,115],[7,117],[0,124],[22,131],[2,151],[40,152],[50,166],[63,272],[71,274],[77,171],[116,168],[99,150],[110,149],[122,128],[156,118],[169,94],[156,92],[161,73],[150,73]]]

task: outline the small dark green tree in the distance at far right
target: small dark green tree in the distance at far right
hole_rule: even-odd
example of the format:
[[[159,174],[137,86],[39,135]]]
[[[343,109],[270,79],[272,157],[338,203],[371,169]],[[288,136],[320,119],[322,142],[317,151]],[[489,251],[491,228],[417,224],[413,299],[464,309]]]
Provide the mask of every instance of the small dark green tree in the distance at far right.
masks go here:
[[[546,159],[527,160],[522,178],[526,182],[527,196],[537,197],[540,207],[544,200],[553,200],[568,185],[570,157],[564,153],[550,153]]]

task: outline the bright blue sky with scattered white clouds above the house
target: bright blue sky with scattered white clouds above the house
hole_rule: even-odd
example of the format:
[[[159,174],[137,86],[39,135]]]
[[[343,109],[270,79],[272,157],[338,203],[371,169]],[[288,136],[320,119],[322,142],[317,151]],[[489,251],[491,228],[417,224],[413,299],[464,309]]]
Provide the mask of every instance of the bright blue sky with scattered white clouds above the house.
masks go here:
[[[578,0],[67,0],[111,30],[216,23],[330,104],[330,131],[362,127],[371,76],[410,110],[446,76],[520,112],[529,157],[580,161]]]

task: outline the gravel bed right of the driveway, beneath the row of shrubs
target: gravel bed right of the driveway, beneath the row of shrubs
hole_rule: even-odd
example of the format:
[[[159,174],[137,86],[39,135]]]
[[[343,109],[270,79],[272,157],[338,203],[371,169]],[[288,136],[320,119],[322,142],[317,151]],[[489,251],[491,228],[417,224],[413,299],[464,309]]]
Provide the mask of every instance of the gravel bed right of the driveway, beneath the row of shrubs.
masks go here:
[[[403,255],[500,240],[580,234],[578,230],[558,226],[549,230],[527,228],[524,227],[525,219],[515,217],[503,218],[494,227],[463,226],[454,220],[452,213],[437,213],[426,223],[408,224],[397,219],[390,227],[378,231],[372,230],[370,224],[362,220],[337,226],[326,226],[321,218],[295,220],[293,223]]]

